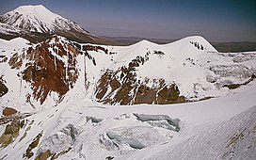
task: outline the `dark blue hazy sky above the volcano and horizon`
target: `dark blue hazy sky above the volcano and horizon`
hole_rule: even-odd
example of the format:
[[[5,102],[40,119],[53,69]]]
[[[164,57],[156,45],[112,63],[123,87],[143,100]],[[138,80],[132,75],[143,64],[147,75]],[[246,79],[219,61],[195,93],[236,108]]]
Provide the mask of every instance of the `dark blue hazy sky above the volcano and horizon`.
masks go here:
[[[255,0],[0,0],[0,14],[29,4],[98,36],[256,41]]]

